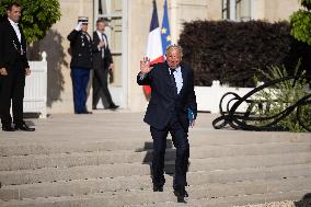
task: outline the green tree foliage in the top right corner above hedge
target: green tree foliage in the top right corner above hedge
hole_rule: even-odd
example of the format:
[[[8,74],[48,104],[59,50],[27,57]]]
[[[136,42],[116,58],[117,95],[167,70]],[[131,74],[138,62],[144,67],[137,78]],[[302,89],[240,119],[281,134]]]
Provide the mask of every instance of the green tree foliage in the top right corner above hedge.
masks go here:
[[[290,16],[291,35],[311,45],[311,0],[300,0],[300,4],[303,9]]]

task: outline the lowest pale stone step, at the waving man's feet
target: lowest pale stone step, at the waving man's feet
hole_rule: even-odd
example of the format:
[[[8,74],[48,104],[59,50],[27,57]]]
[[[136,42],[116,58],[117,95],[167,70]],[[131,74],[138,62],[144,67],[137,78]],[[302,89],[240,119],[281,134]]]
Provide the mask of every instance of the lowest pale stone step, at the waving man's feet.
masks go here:
[[[297,177],[292,180],[210,184],[187,187],[189,199],[219,199],[226,197],[263,195],[279,195],[280,193],[290,194],[299,198],[311,187],[311,177]],[[1,202],[1,206],[128,206],[146,205],[157,203],[176,202],[171,188],[165,188],[163,193],[153,193],[148,189],[128,189],[125,192],[103,192],[100,194],[91,193],[80,196],[61,196],[36,199]],[[232,205],[232,203],[231,203]]]

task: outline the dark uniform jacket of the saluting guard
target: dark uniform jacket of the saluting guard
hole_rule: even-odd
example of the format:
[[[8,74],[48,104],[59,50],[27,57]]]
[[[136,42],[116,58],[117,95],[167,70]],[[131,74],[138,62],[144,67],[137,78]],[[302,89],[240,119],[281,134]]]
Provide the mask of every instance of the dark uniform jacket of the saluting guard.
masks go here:
[[[90,41],[89,41],[89,38]],[[68,36],[70,41],[71,62],[70,68],[85,68],[92,69],[92,56],[96,50],[93,41],[89,34],[82,31],[73,30]]]

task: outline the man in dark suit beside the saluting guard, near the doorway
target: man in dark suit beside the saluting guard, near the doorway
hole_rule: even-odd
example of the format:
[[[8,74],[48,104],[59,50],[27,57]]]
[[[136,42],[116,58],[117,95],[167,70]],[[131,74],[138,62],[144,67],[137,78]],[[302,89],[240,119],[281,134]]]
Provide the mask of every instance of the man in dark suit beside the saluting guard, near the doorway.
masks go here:
[[[96,31],[93,33],[94,44],[103,44],[103,47],[99,48],[100,53],[93,56],[93,110],[96,110],[96,105],[101,99],[101,94],[106,99],[110,110],[116,110],[118,106],[114,104],[112,95],[108,90],[108,72],[113,69],[113,58],[108,46],[107,36],[104,34],[105,21],[99,19],[96,21]]]

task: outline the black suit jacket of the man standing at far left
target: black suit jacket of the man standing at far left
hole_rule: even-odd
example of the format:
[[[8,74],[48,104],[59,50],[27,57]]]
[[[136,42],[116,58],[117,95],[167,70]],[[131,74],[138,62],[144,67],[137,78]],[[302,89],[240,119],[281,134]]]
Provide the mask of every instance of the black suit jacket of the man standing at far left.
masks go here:
[[[5,68],[9,73],[16,64],[21,64],[24,69],[30,67],[26,57],[26,39],[20,24],[19,28],[21,43],[8,19],[0,24],[0,68]]]

